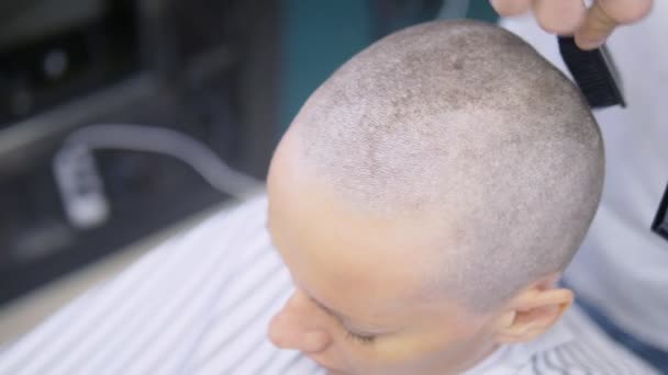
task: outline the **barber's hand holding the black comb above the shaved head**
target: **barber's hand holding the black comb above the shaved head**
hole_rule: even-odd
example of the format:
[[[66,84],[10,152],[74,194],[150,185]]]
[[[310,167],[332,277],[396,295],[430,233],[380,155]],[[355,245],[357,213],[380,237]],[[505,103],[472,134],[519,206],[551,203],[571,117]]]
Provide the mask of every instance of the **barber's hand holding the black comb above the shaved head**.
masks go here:
[[[612,34],[614,27],[641,20],[653,0],[594,0],[587,9],[582,0],[490,0],[501,15],[517,15],[530,9],[545,31],[576,36],[582,49],[593,49]],[[665,1],[665,0],[661,0]]]

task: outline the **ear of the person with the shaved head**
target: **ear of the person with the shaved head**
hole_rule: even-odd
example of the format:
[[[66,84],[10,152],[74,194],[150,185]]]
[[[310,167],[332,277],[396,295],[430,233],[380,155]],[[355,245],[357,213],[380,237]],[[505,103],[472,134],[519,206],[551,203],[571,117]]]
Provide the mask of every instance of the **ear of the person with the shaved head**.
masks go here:
[[[537,284],[514,298],[499,319],[498,343],[526,342],[552,328],[570,307],[574,293]]]

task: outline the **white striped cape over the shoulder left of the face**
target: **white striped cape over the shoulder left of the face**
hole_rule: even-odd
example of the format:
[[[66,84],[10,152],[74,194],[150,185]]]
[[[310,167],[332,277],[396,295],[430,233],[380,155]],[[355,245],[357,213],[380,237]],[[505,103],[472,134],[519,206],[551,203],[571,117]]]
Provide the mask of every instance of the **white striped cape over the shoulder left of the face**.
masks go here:
[[[275,305],[291,287],[269,251],[265,219],[261,196],[152,249],[0,348],[0,374],[165,374],[182,373],[186,364],[202,370],[186,373],[221,373],[292,363],[265,339]],[[237,361],[240,352],[253,355]]]

